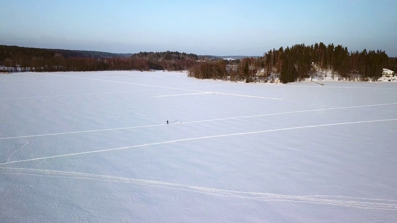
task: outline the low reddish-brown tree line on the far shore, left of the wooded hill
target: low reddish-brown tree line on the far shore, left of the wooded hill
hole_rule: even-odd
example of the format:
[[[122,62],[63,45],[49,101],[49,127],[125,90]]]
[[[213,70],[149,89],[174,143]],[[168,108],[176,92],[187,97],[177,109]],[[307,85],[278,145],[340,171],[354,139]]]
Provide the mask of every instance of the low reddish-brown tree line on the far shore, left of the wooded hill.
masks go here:
[[[105,71],[149,69],[187,70],[197,63],[196,54],[139,52],[129,56],[79,50],[52,50],[0,45],[0,71]]]

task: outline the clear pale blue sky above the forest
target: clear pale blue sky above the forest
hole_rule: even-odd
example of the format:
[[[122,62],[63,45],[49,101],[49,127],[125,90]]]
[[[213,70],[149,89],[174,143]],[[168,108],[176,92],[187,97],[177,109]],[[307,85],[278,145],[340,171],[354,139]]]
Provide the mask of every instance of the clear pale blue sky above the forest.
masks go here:
[[[1,0],[0,44],[260,56],[334,43],[397,56],[397,0]]]

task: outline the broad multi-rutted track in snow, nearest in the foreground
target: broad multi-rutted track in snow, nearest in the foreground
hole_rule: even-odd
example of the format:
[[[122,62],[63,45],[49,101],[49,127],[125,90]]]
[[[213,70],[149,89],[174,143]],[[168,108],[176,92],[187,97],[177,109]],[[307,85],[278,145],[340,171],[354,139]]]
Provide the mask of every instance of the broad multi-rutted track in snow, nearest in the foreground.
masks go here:
[[[39,177],[63,177],[63,178],[71,178],[71,179],[110,181],[115,183],[132,183],[137,185],[152,186],[152,187],[166,188],[172,190],[182,190],[185,192],[197,192],[197,193],[209,194],[214,196],[251,199],[251,200],[264,201],[264,202],[270,202],[270,201],[306,202],[306,203],[314,203],[314,204],[328,204],[328,205],[347,206],[347,207],[364,208],[364,209],[397,210],[397,200],[388,200],[388,199],[379,199],[379,198],[355,198],[355,197],[347,197],[347,196],[327,196],[327,195],[295,196],[295,195],[272,194],[272,193],[263,193],[263,192],[246,192],[246,191],[236,191],[236,190],[224,190],[219,188],[207,188],[201,186],[190,186],[190,185],[168,183],[162,181],[133,179],[127,177],[116,177],[116,176],[108,176],[108,175],[97,175],[97,174],[89,174],[89,173],[55,171],[55,170],[12,168],[12,167],[0,167],[0,173],[14,174],[14,175],[33,175]]]

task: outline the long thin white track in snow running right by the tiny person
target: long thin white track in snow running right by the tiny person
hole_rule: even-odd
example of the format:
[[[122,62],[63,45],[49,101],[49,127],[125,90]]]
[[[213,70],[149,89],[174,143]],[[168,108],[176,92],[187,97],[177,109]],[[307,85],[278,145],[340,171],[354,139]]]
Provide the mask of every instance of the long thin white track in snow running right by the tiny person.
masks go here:
[[[351,107],[337,107],[337,108],[324,108],[324,109],[316,109],[316,110],[303,110],[303,111],[295,111],[295,112],[280,112],[280,113],[271,113],[271,114],[262,114],[262,115],[248,115],[248,116],[229,117],[229,118],[220,118],[220,119],[208,119],[208,120],[200,120],[200,121],[187,121],[187,122],[182,122],[182,123],[173,123],[173,124],[170,124],[170,125],[183,125],[183,124],[199,123],[199,122],[207,122],[207,121],[241,119],[241,118],[268,116],[268,115],[281,115],[281,114],[290,114],[290,113],[300,113],[300,112],[317,112],[317,111],[334,110],[334,109],[345,109],[345,108],[362,108],[362,107],[382,106],[382,105],[392,105],[392,104],[397,104],[397,103],[373,104],[373,105],[351,106]],[[11,136],[11,137],[0,138],[0,140],[1,139],[10,139],[10,138],[26,138],[26,137],[37,137],[37,136],[64,135],[64,134],[74,134],[74,133],[91,133],[91,132],[99,132],[99,131],[135,129],[135,128],[145,128],[145,127],[156,127],[156,126],[162,126],[162,125],[166,125],[166,124],[143,125],[143,126],[134,126],[134,127],[114,128],[114,129],[96,129],[96,130],[75,131],[75,132],[66,132],[66,133],[49,133],[49,134],[41,134],[41,135]]]

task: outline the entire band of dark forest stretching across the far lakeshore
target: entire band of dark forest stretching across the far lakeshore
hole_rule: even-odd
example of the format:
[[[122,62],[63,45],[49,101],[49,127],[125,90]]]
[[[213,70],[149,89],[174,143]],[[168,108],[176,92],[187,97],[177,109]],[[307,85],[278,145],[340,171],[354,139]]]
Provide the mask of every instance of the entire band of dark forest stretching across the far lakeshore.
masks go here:
[[[0,71],[189,71],[189,77],[245,82],[282,83],[320,79],[377,81],[382,68],[397,70],[397,58],[382,50],[349,52],[347,47],[320,42],[272,49],[259,57],[224,60],[185,52],[112,54],[96,51],[26,48],[0,45]]]

